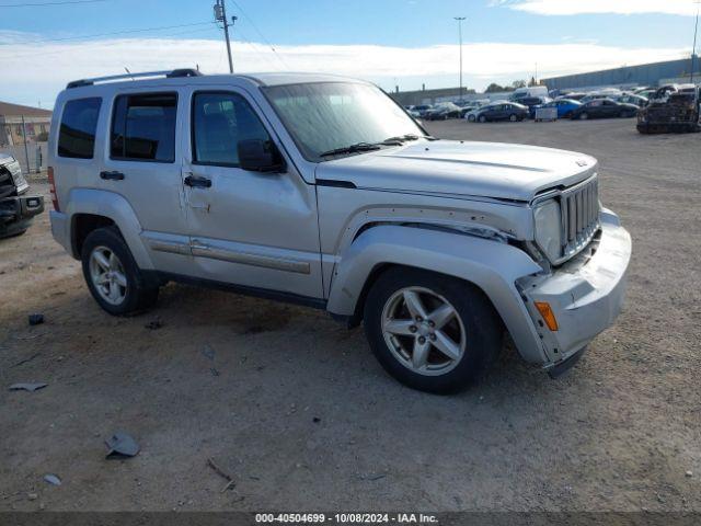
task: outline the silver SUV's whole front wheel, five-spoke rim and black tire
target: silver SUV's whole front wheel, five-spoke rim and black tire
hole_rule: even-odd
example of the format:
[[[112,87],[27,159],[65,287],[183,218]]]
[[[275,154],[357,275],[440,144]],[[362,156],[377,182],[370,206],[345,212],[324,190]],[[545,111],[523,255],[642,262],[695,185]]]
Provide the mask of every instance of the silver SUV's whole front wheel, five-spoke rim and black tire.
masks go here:
[[[473,285],[395,267],[371,288],[365,333],[382,367],[402,384],[449,393],[476,381],[502,348],[491,301]]]

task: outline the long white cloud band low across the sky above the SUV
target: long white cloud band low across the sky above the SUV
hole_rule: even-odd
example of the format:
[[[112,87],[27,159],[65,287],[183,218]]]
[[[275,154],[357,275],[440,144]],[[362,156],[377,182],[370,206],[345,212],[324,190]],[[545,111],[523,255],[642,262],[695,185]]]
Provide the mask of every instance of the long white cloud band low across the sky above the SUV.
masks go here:
[[[14,39],[16,35],[13,35]],[[26,41],[25,41],[26,42]],[[416,48],[375,45],[269,46],[233,43],[234,69],[253,71],[315,71],[347,75],[378,82],[391,90],[453,87],[458,84],[458,46]],[[596,43],[552,45],[480,43],[463,49],[466,85],[485,88],[533,75],[541,78],[622,65],[677,59],[678,48],[622,48]],[[0,100],[50,106],[70,80],[124,72],[153,71],[199,65],[205,73],[227,72],[221,41],[120,38],[80,43],[37,43],[0,46],[3,79]]]

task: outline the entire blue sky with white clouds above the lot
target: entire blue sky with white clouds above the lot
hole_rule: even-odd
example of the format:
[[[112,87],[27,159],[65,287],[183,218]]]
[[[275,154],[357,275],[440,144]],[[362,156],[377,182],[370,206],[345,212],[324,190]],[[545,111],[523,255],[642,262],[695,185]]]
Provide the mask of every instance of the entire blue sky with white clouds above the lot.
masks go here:
[[[322,71],[393,91],[689,57],[694,0],[226,0],[234,71]],[[70,80],[228,72],[214,0],[0,0],[0,101],[50,108]],[[701,37],[699,42],[701,47]]]

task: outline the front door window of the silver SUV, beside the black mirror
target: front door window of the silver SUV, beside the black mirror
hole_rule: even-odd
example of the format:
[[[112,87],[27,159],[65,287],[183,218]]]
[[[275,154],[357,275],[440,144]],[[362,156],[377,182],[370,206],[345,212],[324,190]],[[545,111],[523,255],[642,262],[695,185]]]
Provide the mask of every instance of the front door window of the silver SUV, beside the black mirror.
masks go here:
[[[200,164],[239,165],[241,140],[269,140],[258,116],[235,93],[195,93],[192,112],[193,161]]]

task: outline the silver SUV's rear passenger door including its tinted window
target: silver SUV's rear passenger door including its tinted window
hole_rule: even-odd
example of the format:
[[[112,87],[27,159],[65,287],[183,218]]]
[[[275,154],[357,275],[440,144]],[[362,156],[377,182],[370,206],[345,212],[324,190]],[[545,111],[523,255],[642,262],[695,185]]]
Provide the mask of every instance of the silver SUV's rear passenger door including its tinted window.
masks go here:
[[[134,209],[156,268],[175,273],[192,264],[176,140],[181,104],[172,87],[117,93],[100,170],[102,188],[123,195]]]

